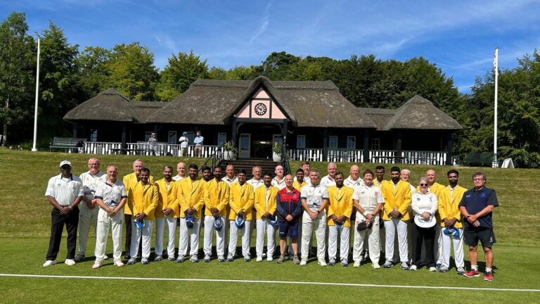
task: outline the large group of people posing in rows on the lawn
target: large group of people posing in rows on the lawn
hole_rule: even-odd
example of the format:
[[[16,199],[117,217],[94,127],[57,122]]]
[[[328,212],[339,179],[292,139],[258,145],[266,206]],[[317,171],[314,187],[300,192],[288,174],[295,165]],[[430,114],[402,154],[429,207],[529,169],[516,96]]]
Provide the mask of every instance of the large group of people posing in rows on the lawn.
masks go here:
[[[390,169],[385,180],[385,167],[360,172],[352,165],[345,178],[335,163],[329,163],[328,175],[320,177],[302,163],[294,175],[284,175],[283,167],[262,172],[252,167],[252,179],[247,172],[233,165],[203,167],[178,163],[165,166],[162,178],[155,181],[142,160],[135,160],[133,172],[117,179],[117,167],[108,165],[100,171],[97,158],[90,158],[89,171],[80,177],[71,173],[71,163],[60,163],[60,175],[52,177],[46,197],[53,205],[51,240],[44,267],[56,263],[56,255],[64,224],[68,230],[67,265],[75,265],[86,255],[86,243],[91,223],[96,227],[96,249],[93,268],[99,268],[105,255],[109,230],[113,237],[113,263],[123,266],[122,230],[125,226],[125,258],[131,265],[141,258],[148,264],[151,239],[155,227],[155,255],[164,258],[165,227],[166,255],[170,261],[199,262],[200,228],[204,223],[203,261],[217,256],[219,262],[236,258],[238,236],[241,236],[241,255],[251,260],[250,238],[256,231],[256,260],[307,265],[311,252],[312,234],[316,239],[316,258],[321,266],[340,263],[349,265],[349,243],[354,232],[352,261],[360,267],[371,260],[373,268],[381,267],[380,249],[385,249],[383,267],[399,263],[403,270],[426,269],[447,272],[450,268],[451,247],[454,247],[456,271],[465,277],[478,277],[477,244],[482,244],[486,268],[484,280],[493,279],[495,243],[491,221],[494,207],[499,205],[493,189],[484,186],[483,172],[473,174],[474,188],[458,185],[459,172],[449,170],[449,185],[436,182],[435,170],[428,170],[418,186],[409,182],[411,172]],[[202,172],[202,179],[198,173]],[[81,205],[79,210],[78,205]],[[79,251],[75,254],[79,227]],[[179,227],[178,253],[175,254],[176,231]],[[380,234],[380,229],[385,234]],[[276,251],[276,230],[279,253]],[[212,255],[213,237],[216,255]],[[394,261],[394,239],[397,236],[399,262]],[[266,239],[266,251],[264,241]],[[381,239],[384,239],[381,242]],[[465,272],[463,241],[468,245],[470,271]],[[409,245],[409,242],[411,245]],[[328,246],[328,250],[327,250]],[[409,246],[412,246],[409,251]],[[409,254],[410,253],[410,254]],[[328,255],[328,260],[326,259]],[[328,262],[327,262],[328,261]]]

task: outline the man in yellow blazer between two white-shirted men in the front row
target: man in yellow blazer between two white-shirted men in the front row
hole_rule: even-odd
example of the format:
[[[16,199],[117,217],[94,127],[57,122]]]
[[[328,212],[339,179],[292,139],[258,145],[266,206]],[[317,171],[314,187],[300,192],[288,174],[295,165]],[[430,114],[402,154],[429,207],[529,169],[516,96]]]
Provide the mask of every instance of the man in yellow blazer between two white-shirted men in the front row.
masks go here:
[[[345,186],[342,172],[334,175],[335,186],[328,187],[328,265],[335,265],[340,234],[340,260],[343,267],[349,266],[349,236],[352,214],[352,194],[354,190]],[[338,229],[340,227],[340,229]]]

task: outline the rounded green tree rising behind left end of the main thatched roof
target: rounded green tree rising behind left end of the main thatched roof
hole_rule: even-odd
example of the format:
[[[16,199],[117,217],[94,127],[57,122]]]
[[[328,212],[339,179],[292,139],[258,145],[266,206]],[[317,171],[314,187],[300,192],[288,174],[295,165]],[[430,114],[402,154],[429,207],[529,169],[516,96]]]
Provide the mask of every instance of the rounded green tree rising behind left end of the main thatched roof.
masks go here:
[[[193,50],[189,53],[172,54],[169,63],[160,75],[157,94],[162,100],[172,101],[199,78],[207,78],[208,66],[206,59],[200,60]]]

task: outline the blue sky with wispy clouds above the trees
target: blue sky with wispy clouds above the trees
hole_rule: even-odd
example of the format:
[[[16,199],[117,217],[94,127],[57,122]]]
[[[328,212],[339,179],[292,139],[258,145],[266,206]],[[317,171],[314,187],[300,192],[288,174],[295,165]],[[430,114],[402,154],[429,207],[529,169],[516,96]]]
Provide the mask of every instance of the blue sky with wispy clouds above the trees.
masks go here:
[[[423,56],[462,92],[491,69],[497,46],[502,69],[540,46],[540,0],[0,0],[1,20],[13,11],[26,13],[30,32],[51,20],[81,49],[139,41],[160,69],[190,50],[221,68],[260,64],[272,51]]]

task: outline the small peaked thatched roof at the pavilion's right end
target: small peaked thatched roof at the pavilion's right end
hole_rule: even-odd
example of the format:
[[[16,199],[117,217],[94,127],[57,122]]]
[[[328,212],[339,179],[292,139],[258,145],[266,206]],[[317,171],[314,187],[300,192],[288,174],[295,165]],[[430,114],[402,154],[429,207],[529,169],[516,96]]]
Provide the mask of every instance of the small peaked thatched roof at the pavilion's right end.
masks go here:
[[[431,101],[416,95],[396,109],[385,129],[463,129],[449,115],[433,106]]]

